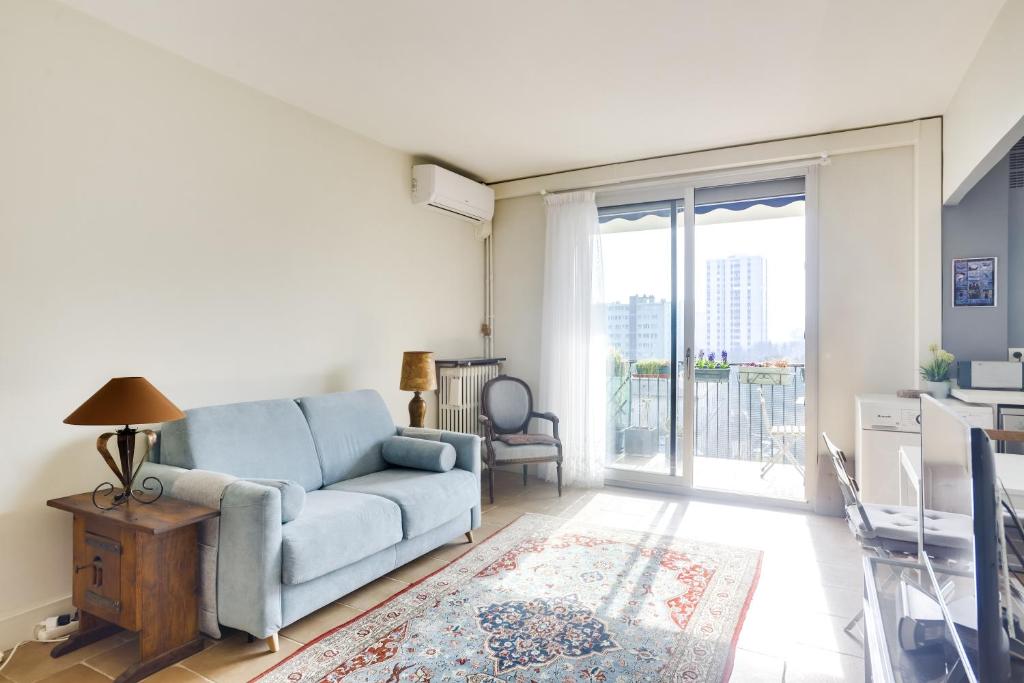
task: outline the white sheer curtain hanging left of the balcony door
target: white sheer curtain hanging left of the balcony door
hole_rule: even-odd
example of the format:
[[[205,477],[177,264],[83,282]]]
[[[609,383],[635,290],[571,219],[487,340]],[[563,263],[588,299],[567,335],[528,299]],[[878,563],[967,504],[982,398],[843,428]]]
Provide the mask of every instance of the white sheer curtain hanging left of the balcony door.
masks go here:
[[[548,195],[538,408],[558,416],[566,484],[599,486],[605,459],[605,314],[594,193]],[[555,468],[549,465],[548,480]]]

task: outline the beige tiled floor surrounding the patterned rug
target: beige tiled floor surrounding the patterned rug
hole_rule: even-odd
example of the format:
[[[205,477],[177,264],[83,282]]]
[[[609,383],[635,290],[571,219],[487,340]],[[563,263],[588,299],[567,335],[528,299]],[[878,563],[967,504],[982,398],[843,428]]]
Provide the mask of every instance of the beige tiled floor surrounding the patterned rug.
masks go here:
[[[765,552],[761,581],[739,637],[732,680],[862,681],[860,645],[843,633],[859,609],[859,549],[844,522],[800,512],[740,507],[607,487],[566,489],[514,473],[497,477],[496,505],[485,505],[482,540],[524,512],[573,517],[590,523],[727,543]],[[486,500],[486,497],[484,497]],[[428,556],[346,595],[284,629],[281,652],[247,643],[232,632],[206,649],[153,676],[158,683],[248,681],[302,643],[374,606],[410,582],[443,566],[469,549],[460,537]],[[23,646],[2,675],[7,683],[103,683],[133,661],[134,641],[118,636],[59,659],[49,645]]]

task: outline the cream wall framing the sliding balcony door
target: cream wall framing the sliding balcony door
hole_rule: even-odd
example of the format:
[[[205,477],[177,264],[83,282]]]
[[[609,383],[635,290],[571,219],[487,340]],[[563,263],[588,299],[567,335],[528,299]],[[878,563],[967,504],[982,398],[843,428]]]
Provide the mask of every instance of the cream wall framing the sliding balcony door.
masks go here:
[[[496,185],[496,349],[506,368],[540,383],[544,208],[540,189],[722,172],[828,153],[818,169],[817,429],[853,452],[853,397],[918,384],[916,367],[940,340],[939,124],[926,120],[617,164]],[[809,365],[813,362],[809,358]],[[535,384],[535,387],[537,385]],[[810,433],[810,432],[809,432]],[[820,450],[818,444],[817,450]],[[822,468],[818,509],[839,492]],[[822,487],[823,486],[823,487]]]

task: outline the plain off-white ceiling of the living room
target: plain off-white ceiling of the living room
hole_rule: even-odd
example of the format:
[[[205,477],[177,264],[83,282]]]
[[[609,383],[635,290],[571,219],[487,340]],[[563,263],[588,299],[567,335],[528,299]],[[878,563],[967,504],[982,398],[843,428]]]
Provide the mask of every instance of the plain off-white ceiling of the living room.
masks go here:
[[[1002,0],[66,0],[495,181],[941,114]]]

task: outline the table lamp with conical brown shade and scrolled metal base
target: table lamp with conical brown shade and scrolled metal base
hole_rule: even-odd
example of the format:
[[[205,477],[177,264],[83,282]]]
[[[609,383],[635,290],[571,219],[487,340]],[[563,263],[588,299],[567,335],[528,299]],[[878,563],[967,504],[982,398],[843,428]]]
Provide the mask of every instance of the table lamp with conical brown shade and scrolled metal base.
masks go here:
[[[88,400],[78,407],[74,413],[65,418],[68,425],[124,425],[116,432],[105,432],[96,439],[96,450],[103,457],[103,462],[118,478],[120,490],[110,481],[96,486],[92,492],[92,504],[100,510],[110,510],[134,499],[139,503],[153,503],[164,493],[164,484],[157,477],[145,477],[142,488],[135,488],[135,475],[145,462],[145,456],[157,441],[157,433],[152,429],[134,429],[129,425],[151,424],[154,422],[173,422],[185,417],[177,405],[167,396],[160,393],[144,377],[115,377],[92,394]],[[141,431],[145,434],[145,453],[135,464],[135,435]],[[120,464],[108,450],[111,437],[118,437],[118,455]],[[157,487],[159,486],[159,490]],[[155,493],[156,492],[156,493]],[[110,506],[100,505],[98,496],[113,496]]]

